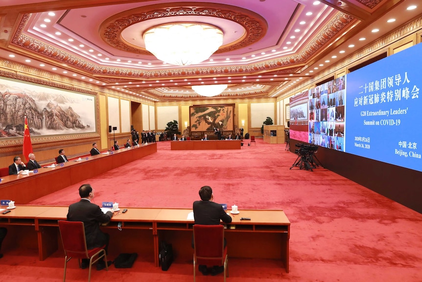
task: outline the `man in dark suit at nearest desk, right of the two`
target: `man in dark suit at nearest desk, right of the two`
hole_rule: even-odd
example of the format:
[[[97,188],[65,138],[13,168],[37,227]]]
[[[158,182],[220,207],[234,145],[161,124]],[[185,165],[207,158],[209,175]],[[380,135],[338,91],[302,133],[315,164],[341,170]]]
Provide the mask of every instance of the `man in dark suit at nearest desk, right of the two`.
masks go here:
[[[199,196],[201,197],[201,201],[193,202],[195,224],[219,225],[220,220],[224,223],[232,222],[232,217],[224,211],[223,206],[214,203],[214,195],[210,186],[201,187],[199,189]],[[224,239],[224,245],[226,245],[226,239]],[[208,274],[206,265],[199,265],[198,269],[203,275]],[[223,270],[223,266],[214,265],[211,269],[211,275],[221,273]]]

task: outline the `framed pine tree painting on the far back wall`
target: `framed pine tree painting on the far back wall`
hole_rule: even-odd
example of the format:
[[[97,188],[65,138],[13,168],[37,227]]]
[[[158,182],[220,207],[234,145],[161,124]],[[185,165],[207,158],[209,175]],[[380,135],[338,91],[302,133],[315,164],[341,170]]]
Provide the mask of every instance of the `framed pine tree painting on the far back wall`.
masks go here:
[[[191,131],[233,130],[234,104],[189,107]]]

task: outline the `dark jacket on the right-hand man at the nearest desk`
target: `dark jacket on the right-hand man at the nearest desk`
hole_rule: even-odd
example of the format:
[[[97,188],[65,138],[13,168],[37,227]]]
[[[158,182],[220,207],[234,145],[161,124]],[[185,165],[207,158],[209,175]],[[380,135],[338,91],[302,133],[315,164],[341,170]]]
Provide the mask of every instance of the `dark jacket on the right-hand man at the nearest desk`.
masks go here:
[[[224,223],[232,222],[232,217],[224,211],[223,206],[210,201],[193,202],[193,216],[195,224],[218,225],[220,219]]]

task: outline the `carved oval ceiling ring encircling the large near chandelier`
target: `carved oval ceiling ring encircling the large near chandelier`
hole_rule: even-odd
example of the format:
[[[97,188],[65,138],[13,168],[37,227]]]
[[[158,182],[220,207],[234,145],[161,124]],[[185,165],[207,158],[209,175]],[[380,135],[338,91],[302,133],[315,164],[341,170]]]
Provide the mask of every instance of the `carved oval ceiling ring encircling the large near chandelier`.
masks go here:
[[[215,3],[169,3],[142,6],[127,10],[106,19],[100,25],[100,37],[109,45],[119,50],[142,55],[152,55],[144,48],[130,44],[122,39],[121,32],[128,26],[144,21],[171,18],[177,22],[177,16],[207,16],[233,21],[245,29],[245,34],[237,41],[220,47],[215,53],[223,53],[244,48],[258,42],[267,32],[268,25],[263,17],[247,9]],[[203,6],[199,6],[203,5]],[[206,5],[206,6],[205,6]],[[174,17],[174,19],[173,19]]]

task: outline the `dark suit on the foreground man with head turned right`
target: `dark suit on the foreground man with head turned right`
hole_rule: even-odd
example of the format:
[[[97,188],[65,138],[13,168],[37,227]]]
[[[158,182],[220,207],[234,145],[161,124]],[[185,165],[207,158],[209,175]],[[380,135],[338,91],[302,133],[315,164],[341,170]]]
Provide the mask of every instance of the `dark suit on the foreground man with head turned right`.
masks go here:
[[[68,220],[82,221],[85,227],[85,237],[88,249],[101,247],[107,242],[106,235],[100,230],[99,224],[109,222],[113,213],[103,213],[98,205],[81,199],[79,202],[69,206]]]

